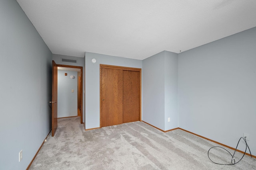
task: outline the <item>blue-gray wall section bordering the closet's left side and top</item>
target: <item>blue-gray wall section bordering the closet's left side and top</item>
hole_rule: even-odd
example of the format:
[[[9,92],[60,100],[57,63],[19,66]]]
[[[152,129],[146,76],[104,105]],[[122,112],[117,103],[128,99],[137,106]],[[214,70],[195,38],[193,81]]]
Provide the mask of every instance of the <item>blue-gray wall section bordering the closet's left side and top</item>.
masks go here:
[[[94,64],[91,60],[95,58]],[[100,64],[142,68],[142,61],[96,53],[85,53],[85,127],[100,127]]]

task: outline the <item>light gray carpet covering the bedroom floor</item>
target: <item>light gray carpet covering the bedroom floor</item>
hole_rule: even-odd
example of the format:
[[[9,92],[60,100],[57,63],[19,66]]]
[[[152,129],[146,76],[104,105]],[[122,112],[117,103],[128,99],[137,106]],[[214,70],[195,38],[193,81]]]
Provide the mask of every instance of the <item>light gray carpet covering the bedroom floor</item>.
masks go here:
[[[80,117],[62,118],[30,170],[256,169],[256,159],[250,156],[236,165],[212,163],[207,152],[213,146],[218,145],[180,129],[164,133],[139,121],[84,131]],[[213,150],[211,156],[220,163],[231,161],[222,150]],[[236,160],[241,156],[238,152]]]

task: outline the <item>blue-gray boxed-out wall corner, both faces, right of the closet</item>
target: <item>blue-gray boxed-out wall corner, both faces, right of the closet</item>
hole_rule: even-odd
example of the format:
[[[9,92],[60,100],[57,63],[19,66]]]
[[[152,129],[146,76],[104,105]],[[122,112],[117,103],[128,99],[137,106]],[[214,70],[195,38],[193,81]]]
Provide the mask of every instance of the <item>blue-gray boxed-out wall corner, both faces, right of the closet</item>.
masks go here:
[[[178,54],[162,51],[142,64],[142,120],[164,131],[178,127]]]

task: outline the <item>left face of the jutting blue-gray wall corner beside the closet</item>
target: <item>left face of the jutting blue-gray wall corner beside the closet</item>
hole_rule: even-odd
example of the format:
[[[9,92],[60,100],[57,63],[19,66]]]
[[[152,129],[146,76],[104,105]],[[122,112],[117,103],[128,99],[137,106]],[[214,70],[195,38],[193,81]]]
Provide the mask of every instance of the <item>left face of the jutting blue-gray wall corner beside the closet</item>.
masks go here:
[[[142,61],[142,120],[162,130],[165,129],[164,61],[164,51]]]

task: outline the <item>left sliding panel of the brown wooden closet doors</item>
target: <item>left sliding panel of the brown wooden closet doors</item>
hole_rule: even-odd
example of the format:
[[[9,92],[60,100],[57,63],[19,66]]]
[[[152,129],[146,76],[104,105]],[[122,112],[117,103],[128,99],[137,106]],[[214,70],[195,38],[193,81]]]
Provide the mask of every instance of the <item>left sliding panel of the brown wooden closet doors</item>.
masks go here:
[[[123,123],[123,70],[101,70],[101,127]]]

